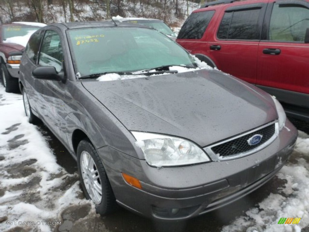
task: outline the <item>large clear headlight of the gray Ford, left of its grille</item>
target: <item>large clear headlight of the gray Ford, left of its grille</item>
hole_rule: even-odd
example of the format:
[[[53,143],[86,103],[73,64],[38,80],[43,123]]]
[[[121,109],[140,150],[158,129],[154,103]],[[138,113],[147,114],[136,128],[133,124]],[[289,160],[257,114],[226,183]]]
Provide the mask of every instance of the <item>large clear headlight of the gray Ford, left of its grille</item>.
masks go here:
[[[210,161],[201,148],[188,140],[136,131],[132,131],[132,134],[151,166],[178,166]]]

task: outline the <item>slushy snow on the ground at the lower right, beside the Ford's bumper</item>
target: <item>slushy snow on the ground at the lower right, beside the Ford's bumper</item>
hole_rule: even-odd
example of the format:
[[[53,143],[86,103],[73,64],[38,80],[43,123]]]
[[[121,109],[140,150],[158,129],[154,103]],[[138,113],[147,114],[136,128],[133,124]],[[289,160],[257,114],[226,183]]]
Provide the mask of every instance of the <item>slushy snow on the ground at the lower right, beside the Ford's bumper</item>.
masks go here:
[[[222,232],[301,231],[309,225],[309,135],[299,131],[290,161],[283,166],[277,177],[287,181],[279,194],[271,193],[259,203],[258,208],[246,212]],[[298,224],[278,224],[281,217],[301,218]]]

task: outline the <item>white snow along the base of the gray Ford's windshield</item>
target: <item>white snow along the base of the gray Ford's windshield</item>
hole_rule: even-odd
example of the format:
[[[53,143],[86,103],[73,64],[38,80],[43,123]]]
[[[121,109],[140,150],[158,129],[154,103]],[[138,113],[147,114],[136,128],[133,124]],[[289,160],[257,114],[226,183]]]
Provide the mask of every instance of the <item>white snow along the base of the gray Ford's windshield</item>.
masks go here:
[[[191,56],[194,58],[194,61],[196,62],[198,67],[196,67],[196,68],[186,68],[186,67],[181,67],[181,66],[171,66],[171,67],[169,67],[169,70],[170,71],[176,70],[176,71],[178,71],[178,73],[181,73],[181,72],[196,71],[196,70],[200,70],[200,69],[209,69],[209,70],[213,69],[208,64],[206,64],[203,61],[200,61],[195,56],[193,56],[193,55],[191,55]],[[153,70],[153,71],[155,71],[155,70]],[[142,72],[143,71],[137,71],[137,72],[133,72],[133,74],[139,74],[139,73],[142,73]],[[170,74],[170,73],[154,74],[154,75],[150,75],[150,76],[159,76],[159,75],[168,75],[168,74]],[[99,76],[97,80],[98,81],[125,80],[125,79],[143,78],[143,77],[146,77],[146,76],[147,75],[119,75],[117,73],[108,73],[108,74]]]

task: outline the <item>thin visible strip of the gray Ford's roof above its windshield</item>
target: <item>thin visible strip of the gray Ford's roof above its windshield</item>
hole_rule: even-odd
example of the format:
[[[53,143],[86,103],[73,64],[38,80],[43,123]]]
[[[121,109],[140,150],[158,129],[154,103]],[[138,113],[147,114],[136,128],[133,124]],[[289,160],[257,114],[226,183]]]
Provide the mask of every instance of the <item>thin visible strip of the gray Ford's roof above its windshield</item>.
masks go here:
[[[130,24],[130,23],[119,23],[116,22],[117,26],[120,27],[139,27],[139,28],[149,28],[144,25],[139,24]],[[57,23],[57,24],[49,24],[53,26],[60,26],[64,25],[68,29],[75,29],[75,28],[87,28],[87,27],[116,27],[113,21],[88,21],[88,22],[72,22],[72,23]]]

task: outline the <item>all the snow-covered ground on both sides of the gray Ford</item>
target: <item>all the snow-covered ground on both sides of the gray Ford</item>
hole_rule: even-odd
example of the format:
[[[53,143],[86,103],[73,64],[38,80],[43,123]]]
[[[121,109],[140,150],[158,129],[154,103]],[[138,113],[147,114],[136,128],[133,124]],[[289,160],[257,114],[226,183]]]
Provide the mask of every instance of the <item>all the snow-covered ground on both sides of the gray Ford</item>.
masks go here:
[[[277,177],[286,184],[222,231],[298,232],[308,228],[309,135],[299,131],[292,157]],[[281,217],[301,220],[297,225],[279,225]],[[75,232],[81,226],[85,229],[79,231],[98,231],[91,227],[94,221],[101,225],[100,231],[107,231],[102,220],[84,199],[78,175],[68,174],[57,164],[46,138],[28,123],[22,96],[6,93],[0,86],[0,231]]]

